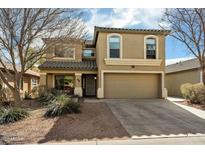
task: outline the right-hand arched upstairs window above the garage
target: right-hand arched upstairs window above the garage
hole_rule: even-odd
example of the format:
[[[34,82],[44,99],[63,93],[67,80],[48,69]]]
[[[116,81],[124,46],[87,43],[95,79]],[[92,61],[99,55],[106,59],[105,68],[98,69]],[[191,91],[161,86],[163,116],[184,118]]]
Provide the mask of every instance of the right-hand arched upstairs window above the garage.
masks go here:
[[[146,59],[157,59],[157,37],[146,36],[145,37],[145,58]]]

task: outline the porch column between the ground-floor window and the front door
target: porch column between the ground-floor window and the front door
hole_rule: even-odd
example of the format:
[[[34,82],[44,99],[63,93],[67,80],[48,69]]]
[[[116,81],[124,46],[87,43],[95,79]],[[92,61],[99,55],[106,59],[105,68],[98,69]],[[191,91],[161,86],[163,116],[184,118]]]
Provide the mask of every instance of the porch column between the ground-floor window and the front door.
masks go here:
[[[75,89],[74,89],[74,95],[78,95],[80,97],[83,96],[83,90],[82,90],[82,73],[75,73]]]

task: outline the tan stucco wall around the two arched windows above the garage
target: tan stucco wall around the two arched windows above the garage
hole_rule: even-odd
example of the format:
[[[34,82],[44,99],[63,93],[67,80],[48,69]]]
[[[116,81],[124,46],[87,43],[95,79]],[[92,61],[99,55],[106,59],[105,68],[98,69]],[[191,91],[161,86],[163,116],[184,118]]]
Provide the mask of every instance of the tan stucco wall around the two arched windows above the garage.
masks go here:
[[[164,71],[165,70],[165,36],[158,37],[159,59],[162,59],[160,66],[135,66],[131,65],[106,65],[104,59],[107,58],[107,35],[110,33],[100,32],[96,43],[96,60],[98,65],[98,86],[101,87],[101,70],[126,70],[126,71]],[[122,36],[122,58],[123,59],[144,59],[144,37],[147,34],[120,33]]]

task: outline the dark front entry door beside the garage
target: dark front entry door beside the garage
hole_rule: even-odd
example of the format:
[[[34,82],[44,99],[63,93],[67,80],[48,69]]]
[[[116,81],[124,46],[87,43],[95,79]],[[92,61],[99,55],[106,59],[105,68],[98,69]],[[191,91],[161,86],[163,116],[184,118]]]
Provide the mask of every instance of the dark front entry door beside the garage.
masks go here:
[[[96,96],[96,75],[85,75],[84,77],[84,95]]]

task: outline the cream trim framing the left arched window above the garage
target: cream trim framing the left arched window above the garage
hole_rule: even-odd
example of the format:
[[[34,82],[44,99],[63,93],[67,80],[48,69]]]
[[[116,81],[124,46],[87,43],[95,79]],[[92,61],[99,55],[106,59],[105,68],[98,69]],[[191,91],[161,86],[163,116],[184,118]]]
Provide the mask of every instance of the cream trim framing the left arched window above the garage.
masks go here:
[[[111,36],[119,36],[120,37],[120,58],[110,58],[110,43],[109,43],[109,38]],[[123,41],[122,41],[122,35],[118,33],[111,33],[107,35],[107,59],[122,59],[122,46]]]

